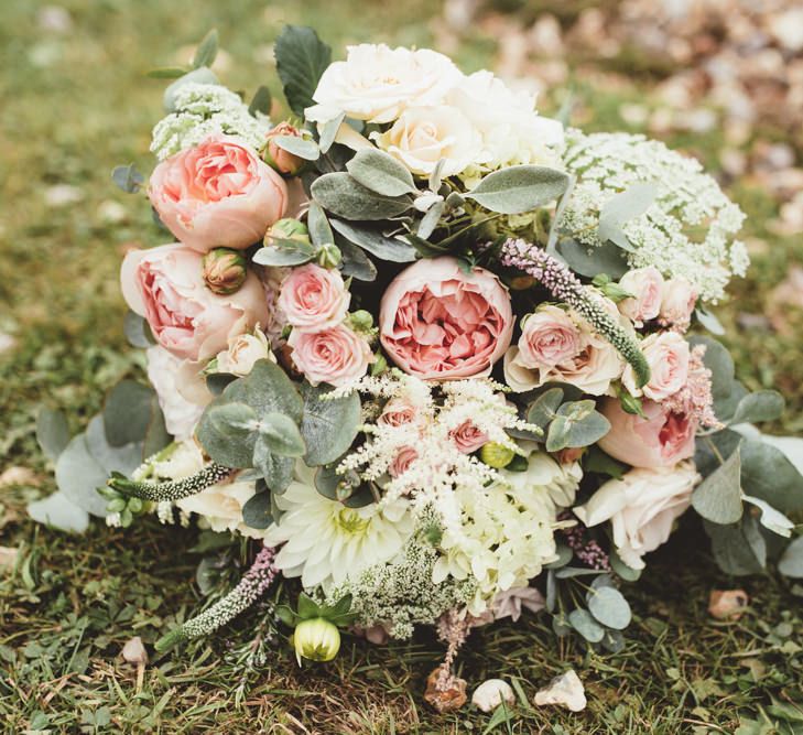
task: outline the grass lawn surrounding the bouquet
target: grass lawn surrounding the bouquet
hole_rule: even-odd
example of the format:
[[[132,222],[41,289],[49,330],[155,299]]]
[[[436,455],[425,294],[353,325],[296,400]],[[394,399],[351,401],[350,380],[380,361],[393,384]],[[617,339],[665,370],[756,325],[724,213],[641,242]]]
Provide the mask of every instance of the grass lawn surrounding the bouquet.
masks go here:
[[[96,523],[69,537],[35,527],[24,512],[29,499],[53,489],[33,439],[36,408],[65,410],[77,431],[117,380],[142,376],[142,356],[122,337],[117,271],[127,247],[155,245],[160,235],[147,203],[116,191],[109,171],[130,161],[151,166],[147,149],[161,83],[143,72],[172,63],[175,48],[216,25],[232,62],[225,79],[251,90],[268,82],[278,93],[264,58],[281,22],[316,25],[335,53],[345,42],[369,39],[424,45],[432,43],[437,8],[426,0],[404,7],[346,0],[337,12],[323,0],[281,8],[251,0],[65,0],[74,28],[58,35],[37,28],[40,4],[6,0],[0,9],[0,332],[17,341],[0,354],[0,472],[25,466],[35,473],[0,495],[0,545],[19,549],[15,568],[0,572],[4,732],[482,733],[489,716],[470,707],[437,716],[423,703],[425,678],[443,653],[426,631],[387,648],[349,639],[333,664],[299,670],[284,641],[271,642],[267,608],[214,640],[152,660],[139,688],[135,668],[119,651],[132,635],[152,644],[174,616],[202,604],[194,582],[204,555],[193,551],[197,532],[145,520],[124,533]],[[477,68],[492,63],[493,48],[493,39],[474,31],[457,58]],[[652,84],[640,75],[597,89],[584,79],[578,73],[575,86],[590,129],[622,127],[620,105],[643,101]],[[556,106],[560,95],[544,101]],[[670,142],[718,165],[717,131]],[[63,184],[79,201],[48,204],[47,192]],[[737,317],[762,312],[790,263],[803,262],[803,245],[767,229],[778,204],[766,193],[739,182],[730,191],[750,214],[748,236],[770,247],[717,313],[740,378],[751,388],[781,388],[790,408],[777,429],[801,432],[803,361],[794,331],[738,328]],[[121,221],[108,221],[109,202],[126,207]],[[738,621],[714,623],[706,613],[709,591],[735,584],[749,592],[750,610]],[[800,588],[795,595],[772,575],[724,577],[688,518],[627,592],[634,624],[617,656],[556,642],[538,616],[473,634],[459,671],[469,687],[501,677],[525,694],[493,732],[801,732],[803,715],[791,704],[803,680]],[[253,630],[267,634],[260,642],[267,657],[249,670],[241,661]],[[584,713],[528,704],[568,667],[586,684]]]

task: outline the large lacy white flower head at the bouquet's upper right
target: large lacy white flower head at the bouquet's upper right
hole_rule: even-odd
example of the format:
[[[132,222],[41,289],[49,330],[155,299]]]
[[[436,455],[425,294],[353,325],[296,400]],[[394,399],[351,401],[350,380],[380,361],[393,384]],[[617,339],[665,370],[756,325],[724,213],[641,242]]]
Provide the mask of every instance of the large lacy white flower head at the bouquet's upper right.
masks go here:
[[[745,214],[695,159],[643,136],[574,130],[564,163],[577,184],[561,227],[578,242],[601,245],[597,227],[606,203],[638,182],[652,182],[655,201],[622,226],[633,246],[629,264],[685,278],[703,301],[713,303],[723,298],[731,277],[745,274],[747,250],[734,238]]]

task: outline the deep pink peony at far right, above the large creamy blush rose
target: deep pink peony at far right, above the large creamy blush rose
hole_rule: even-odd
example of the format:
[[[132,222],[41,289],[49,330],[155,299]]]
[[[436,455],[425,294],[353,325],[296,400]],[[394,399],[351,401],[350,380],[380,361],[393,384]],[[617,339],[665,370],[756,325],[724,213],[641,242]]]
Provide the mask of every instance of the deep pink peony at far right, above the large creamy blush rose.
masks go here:
[[[615,460],[648,468],[672,467],[694,455],[696,419],[650,400],[642,409],[645,418],[627,413],[618,399],[606,398],[600,411],[610,431],[599,440],[600,448]]]

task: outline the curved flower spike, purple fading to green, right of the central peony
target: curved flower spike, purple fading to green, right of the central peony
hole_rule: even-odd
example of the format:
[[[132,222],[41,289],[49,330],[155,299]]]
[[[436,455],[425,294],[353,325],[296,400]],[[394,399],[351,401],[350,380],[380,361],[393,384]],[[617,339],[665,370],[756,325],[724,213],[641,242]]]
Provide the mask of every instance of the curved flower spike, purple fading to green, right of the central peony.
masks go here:
[[[510,238],[504,241],[500,262],[532,275],[555,299],[574,309],[631,365],[639,387],[650,380],[650,366],[639,343],[606,311],[603,303],[561,261],[531,242]]]

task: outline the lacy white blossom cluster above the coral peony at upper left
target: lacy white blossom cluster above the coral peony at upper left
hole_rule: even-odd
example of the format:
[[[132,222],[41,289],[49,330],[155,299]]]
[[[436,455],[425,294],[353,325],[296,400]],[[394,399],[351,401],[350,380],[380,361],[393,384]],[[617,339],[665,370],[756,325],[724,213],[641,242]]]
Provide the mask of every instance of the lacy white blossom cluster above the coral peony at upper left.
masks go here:
[[[151,152],[160,161],[220,133],[237,136],[259,149],[271,128],[264,115],[251,115],[239,95],[221,85],[184,84],[176,90],[174,104],[175,112],[153,128]]]

